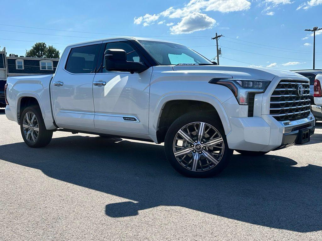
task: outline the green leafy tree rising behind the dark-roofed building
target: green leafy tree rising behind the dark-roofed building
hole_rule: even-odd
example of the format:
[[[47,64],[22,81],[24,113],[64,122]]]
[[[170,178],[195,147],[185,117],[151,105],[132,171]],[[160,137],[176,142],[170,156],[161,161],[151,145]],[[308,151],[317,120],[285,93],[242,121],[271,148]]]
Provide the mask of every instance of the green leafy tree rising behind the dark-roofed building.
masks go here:
[[[59,50],[53,46],[48,46],[43,42],[38,42],[31,47],[30,50],[26,49],[26,57],[33,58],[59,58]]]

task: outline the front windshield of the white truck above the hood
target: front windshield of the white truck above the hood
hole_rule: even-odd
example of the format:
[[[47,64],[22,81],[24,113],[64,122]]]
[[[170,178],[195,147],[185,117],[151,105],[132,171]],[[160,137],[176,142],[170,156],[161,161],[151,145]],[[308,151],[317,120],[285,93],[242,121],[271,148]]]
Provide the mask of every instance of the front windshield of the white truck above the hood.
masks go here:
[[[139,42],[159,65],[213,64],[194,50],[180,44],[147,40]]]

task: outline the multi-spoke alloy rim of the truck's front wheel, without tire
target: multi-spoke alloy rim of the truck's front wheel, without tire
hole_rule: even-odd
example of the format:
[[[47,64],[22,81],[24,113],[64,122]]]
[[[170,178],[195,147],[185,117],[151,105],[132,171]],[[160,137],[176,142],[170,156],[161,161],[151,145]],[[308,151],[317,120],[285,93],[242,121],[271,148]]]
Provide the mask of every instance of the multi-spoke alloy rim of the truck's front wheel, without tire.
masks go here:
[[[224,141],[219,131],[204,122],[185,125],[175,135],[173,152],[188,170],[203,172],[216,166],[223,157]]]

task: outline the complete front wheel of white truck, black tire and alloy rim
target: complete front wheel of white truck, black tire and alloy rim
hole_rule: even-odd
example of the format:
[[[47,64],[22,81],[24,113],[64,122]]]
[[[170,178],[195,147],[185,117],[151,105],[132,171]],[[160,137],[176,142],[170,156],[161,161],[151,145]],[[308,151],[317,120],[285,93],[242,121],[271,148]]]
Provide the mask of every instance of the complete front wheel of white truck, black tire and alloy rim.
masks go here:
[[[219,174],[232,157],[220,121],[203,112],[176,119],[166,133],[166,157],[179,173],[188,177]]]

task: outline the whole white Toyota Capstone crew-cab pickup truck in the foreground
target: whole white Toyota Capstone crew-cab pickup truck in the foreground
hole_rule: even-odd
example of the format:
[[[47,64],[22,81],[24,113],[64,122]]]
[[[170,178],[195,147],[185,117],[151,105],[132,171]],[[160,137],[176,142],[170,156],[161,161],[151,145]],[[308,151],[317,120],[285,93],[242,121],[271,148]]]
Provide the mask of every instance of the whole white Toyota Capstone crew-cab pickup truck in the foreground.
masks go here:
[[[5,88],[6,116],[30,147],[48,145],[53,131],[164,142],[171,165],[191,177],[218,174],[233,150],[263,155],[304,144],[315,129],[306,77],[217,66],[162,40],[69,45],[54,75],[8,77]]]

